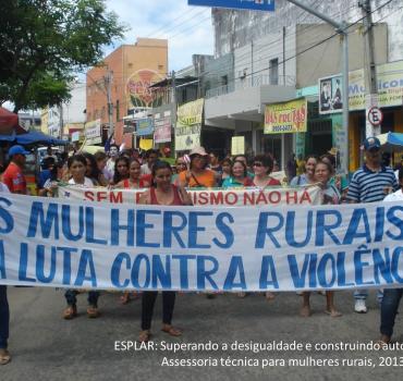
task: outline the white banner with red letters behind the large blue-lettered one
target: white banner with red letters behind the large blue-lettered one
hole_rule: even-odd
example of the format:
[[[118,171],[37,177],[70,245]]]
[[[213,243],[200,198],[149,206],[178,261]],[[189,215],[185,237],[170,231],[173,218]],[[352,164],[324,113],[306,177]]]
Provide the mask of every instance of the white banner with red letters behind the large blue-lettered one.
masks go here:
[[[147,189],[108,189],[105,187],[60,186],[59,198],[112,204],[137,204]],[[269,187],[231,189],[187,189],[193,205],[197,206],[264,206],[264,205],[320,205],[322,200],[318,186],[300,188]]]

